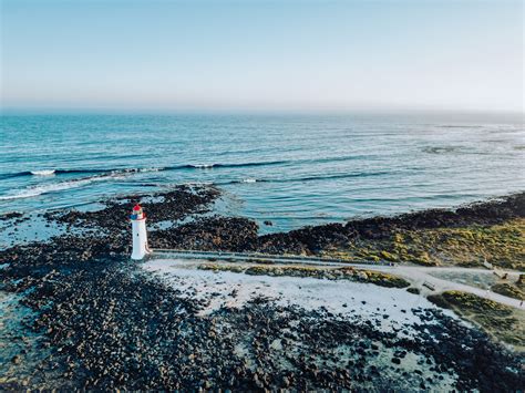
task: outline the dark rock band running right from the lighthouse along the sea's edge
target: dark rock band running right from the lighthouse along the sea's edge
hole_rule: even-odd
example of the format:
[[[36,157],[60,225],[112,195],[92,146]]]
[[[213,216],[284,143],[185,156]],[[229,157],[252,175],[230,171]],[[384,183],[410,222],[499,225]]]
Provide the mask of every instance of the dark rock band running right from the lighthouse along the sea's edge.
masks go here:
[[[432,209],[395,217],[350,220],[306,227],[286,234],[258,236],[256,223],[246,218],[206,217],[195,223],[152,234],[152,245],[203,250],[261,251],[315,255],[356,240],[389,238],[397,230],[496,225],[525,217],[525,193],[498,200],[472,204],[456,210]]]

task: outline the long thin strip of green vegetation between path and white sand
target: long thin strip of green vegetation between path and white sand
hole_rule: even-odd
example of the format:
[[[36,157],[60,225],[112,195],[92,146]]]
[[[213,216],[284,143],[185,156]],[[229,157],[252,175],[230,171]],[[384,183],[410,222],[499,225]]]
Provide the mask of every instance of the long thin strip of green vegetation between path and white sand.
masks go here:
[[[387,288],[406,288],[410,282],[401,277],[382,273],[372,270],[357,270],[350,267],[320,268],[309,266],[268,266],[268,265],[220,265],[204,263],[198,267],[202,270],[234,271],[254,276],[290,276],[313,277],[328,280],[352,280],[359,282],[374,283]]]

